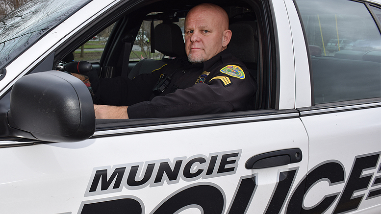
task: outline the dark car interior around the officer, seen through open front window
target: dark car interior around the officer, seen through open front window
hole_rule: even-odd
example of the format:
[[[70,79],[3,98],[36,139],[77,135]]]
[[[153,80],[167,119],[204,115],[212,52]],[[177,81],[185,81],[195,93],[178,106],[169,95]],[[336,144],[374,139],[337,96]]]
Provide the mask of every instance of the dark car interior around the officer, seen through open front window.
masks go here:
[[[253,111],[233,112],[221,115],[186,117],[186,119],[206,119],[216,117],[240,117],[257,114],[254,110],[275,109],[276,96],[276,53],[270,40],[274,38],[274,29],[269,27],[269,5],[262,1],[208,1],[223,7],[229,15],[229,29],[232,38],[229,51],[240,59],[257,81],[258,90],[253,98]],[[187,12],[203,1],[162,0],[142,3],[121,2],[110,9],[100,20],[93,21],[83,31],[57,48],[54,65],[73,61],[73,52],[106,27],[113,24],[112,31],[102,52],[99,62],[92,62],[101,78],[126,76],[130,79],[160,68],[169,60],[185,55],[183,29],[178,22]],[[133,6],[131,6],[133,5]],[[143,21],[150,22],[150,47],[162,54],[161,59],[130,59],[131,49]],[[270,25],[271,26],[271,25]],[[86,36],[87,35],[87,36]],[[143,58],[143,57],[142,57]],[[273,60],[272,60],[273,59]],[[99,120],[99,119],[97,119]],[[171,119],[166,119],[169,121]],[[103,121],[109,123],[109,121]],[[117,122],[117,121],[113,121]],[[131,122],[131,120],[129,120]],[[97,121],[102,123],[102,121]],[[98,126],[97,126],[98,127]]]

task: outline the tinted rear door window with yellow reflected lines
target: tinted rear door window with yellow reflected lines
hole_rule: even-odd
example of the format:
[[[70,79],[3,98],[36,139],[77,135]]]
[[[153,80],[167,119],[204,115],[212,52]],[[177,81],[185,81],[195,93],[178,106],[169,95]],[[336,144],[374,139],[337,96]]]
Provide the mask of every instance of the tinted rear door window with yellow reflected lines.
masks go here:
[[[381,96],[381,36],[366,5],[296,0],[308,40],[315,104]]]

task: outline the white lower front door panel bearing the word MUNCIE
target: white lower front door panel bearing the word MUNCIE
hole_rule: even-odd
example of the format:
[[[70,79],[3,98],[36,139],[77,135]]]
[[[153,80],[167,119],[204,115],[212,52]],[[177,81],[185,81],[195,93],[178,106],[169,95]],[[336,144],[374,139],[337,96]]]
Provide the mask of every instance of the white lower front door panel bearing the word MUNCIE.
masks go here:
[[[271,117],[268,118],[270,120],[114,137],[104,136],[89,139],[80,144],[49,143],[2,148],[1,162],[11,162],[12,167],[17,170],[12,170],[11,176],[1,178],[1,191],[9,192],[9,194],[1,194],[1,200],[13,201],[13,203],[2,204],[0,210],[4,213],[22,213],[24,207],[16,206],[16,204],[18,201],[25,201],[24,206],[30,207],[29,213],[39,213],[41,207],[44,207],[44,213],[75,213],[79,209],[80,201],[109,200],[118,195],[133,195],[143,201],[146,213],[150,213],[172,192],[190,184],[205,182],[213,183],[223,190],[226,198],[224,206],[227,209],[240,177],[252,180],[252,174],[255,174],[258,183],[249,210],[260,213],[259,211],[265,208],[263,206],[271,196],[271,192],[266,193],[266,191],[275,187],[277,172],[280,169],[298,167],[296,179],[300,179],[306,173],[308,157],[305,156],[300,163],[272,167],[270,170],[246,169],[245,162],[250,157],[270,152],[272,150],[269,149],[272,148],[279,150],[295,147],[301,148],[303,154],[308,154],[308,138],[300,119],[272,120]],[[279,135],[272,135],[274,130],[282,131]],[[248,141],[248,139],[251,140]],[[144,153],[137,152],[142,148]],[[216,165],[214,175],[210,177],[203,175],[203,177],[186,179],[181,175],[185,163],[195,157],[208,160],[210,156],[213,156],[212,154],[221,156],[221,154],[234,152],[240,153],[237,163],[226,165],[226,168],[236,167],[233,174],[216,176],[218,167]],[[112,192],[111,185],[108,190],[103,190],[105,193],[97,190],[91,193],[92,195],[86,195],[89,193],[89,186],[93,183],[96,170],[108,169],[108,176],[110,176],[112,169],[127,166],[125,174],[127,177],[128,167],[131,165],[174,163],[178,159],[182,159],[184,163],[180,170],[181,178],[178,178],[175,183],[163,181],[162,184],[154,185],[154,175],[157,174],[155,169],[150,181],[146,185],[136,187],[136,190],[123,187],[123,182],[117,192]],[[209,161],[207,164],[209,165]],[[206,166],[206,164],[194,164],[196,169],[205,170]],[[1,170],[11,169],[2,165]],[[150,186],[147,186],[148,184]],[[71,191],[66,191],[69,189]],[[23,194],[23,192],[29,192],[29,194]],[[39,194],[32,196],[30,195],[32,192],[39,192]],[[65,206],[61,206],[63,201]],[[258,210],[258,207],[261,208]]]

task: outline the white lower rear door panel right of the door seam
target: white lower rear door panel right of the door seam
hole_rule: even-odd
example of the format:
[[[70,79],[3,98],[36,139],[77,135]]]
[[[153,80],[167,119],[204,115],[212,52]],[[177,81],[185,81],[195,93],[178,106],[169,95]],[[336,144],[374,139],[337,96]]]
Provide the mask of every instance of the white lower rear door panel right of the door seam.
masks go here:
[[[315,184],[311,191],[305,195],[306,198],[310,197],[309,194],[317,194],[314,193],[317,190],[319,195],[338,192],[339,196],[332,203],[327,213],[334,213],[335,209],[343,209],[348,212],[373,206],[378,207],[380,211],[380,197],[372,198],[370,196],[372,195],[370,192],[379,189],[375,185],[377,183],[375,179],[381,176],[380,118],[380,103],[359,105],[357,109],[332,108],[330,111],[325,110],[323,114],[321,111],[320,114],[319,111],[302,111],[301,119],[309,138],[308,171],[311,171],[315,166],[328,162],[327,160],[337,160],[337,163],[342,165],[345,171],[344,178],[335,184],[332,182],[330,187],[327,186],[326,182]],[[366,146],[364,146],[365,144]],[[366,160],[369,166],[361,164],[361,159]],[[355,169],[358,173],[356,175]],[[336,170],[336,173],[340,170],[340,168]],[[322,188],[324,191],[318,188]],[[352,195],[352,197],[348,197],[348,195]],[[315,203],[312,201],[304,204],[304,206],[316,206],[315,203],[318,201]],[[352,209],[341,208],[343,204],[349,201],[353,203]]]

